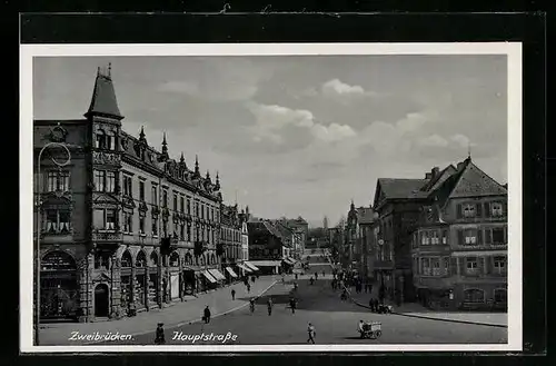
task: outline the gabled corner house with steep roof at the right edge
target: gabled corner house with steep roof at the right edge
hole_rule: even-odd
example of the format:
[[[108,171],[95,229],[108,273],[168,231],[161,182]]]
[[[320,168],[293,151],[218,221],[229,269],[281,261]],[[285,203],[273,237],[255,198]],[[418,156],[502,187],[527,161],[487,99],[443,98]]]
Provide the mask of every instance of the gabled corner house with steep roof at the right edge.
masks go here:
[[[414,231],[413,273],[424,305],[453,308],[507,306],[507,190],[470,158],[425,187]]]

